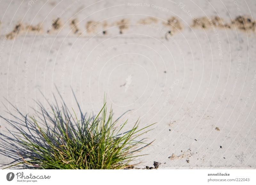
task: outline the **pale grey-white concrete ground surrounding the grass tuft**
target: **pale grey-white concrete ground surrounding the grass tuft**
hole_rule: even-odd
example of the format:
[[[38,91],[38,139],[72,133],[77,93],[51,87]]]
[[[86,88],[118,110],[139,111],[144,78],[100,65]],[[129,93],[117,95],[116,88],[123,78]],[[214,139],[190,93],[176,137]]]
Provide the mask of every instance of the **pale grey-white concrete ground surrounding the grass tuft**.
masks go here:
[[[138,167],[255,169],[256,32],[232,23],[253,22],[255,1],[128,3],[136,1],[1,1],[0,115],[18,116],[11,103],[24,115],[40,111],[38,102],[50,110],[44,96],[61,104],[56,88],[68,107],[78,110],[73,89],[82,112],[97,113],[105,92],[115,118],[130,110],[121,122],[157,122]],[[168,26],[173,16],[181,27]],[[191,26],[215,16],[230,28]],[[9,164],[4,146],[15,146],[4,136],[15,129],[0,125],[0,163]]]

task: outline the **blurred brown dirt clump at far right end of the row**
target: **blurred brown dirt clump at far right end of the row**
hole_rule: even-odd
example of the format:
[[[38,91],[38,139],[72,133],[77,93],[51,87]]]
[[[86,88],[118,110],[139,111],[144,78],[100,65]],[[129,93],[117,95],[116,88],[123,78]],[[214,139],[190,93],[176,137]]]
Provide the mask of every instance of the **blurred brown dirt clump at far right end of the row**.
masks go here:
[[[233,24],[236,28],[243,31],[255,31],[255,22],[249,17],[238,16],[233,20]]]

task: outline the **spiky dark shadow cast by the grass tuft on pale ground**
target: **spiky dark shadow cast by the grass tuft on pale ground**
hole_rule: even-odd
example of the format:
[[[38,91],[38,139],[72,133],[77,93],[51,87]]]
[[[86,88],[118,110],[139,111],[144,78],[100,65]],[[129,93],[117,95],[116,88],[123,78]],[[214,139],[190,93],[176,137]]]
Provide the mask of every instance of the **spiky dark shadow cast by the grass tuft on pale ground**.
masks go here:
[[[77,123],[76,118],[71,114],[60,92],[59,91],[57,92],[62,100],[61,104],[58,104],[55,95],[53,95],[54,101],[55,101],[54,105],[52,105],[44,97],[44,100],[47,102],[48,106],[51,108],[51,111],[46,110],[45,106],[43,106],[41,102],[36,102],[36,105],[39,108],[37,109],[33,108],[36,115],[36,117],[33,117],[33,119],[36,119],[36,122],[40,124],[40,127],[42,125],[42,127],[45,128],[46,134],[49,136],[53,136],[52,133],[58,132],[57,120],[60,120],[60,119],[69,120],[69,126],[72,129],[78,129],[76,124]],[[82,112],[74,92],[73,92],[73,95],[76,100],[76,105],[79,109],[79,114],[80,114],[79,121],[84,122],[85,119],[87,118],[87,113]],[[42,96],[44,95],[42,94]],[[19,111],[19,109],[17,109],[11,102],[8,101],[8,103],[11,105],[11,107],[16,109],[18,114],[14,115],[12,112],[8,110],[7,107],[5,107],[7,110],[6,112],[9,114],[9,118],[6,118],[0,115],[0,117],[4,119],[11,128],[11,130],[7,129],[5,133],[0,133],[0,141],[1,141],[0,155],[13,159],[13,161],[9,164],[1,164],[2,165],[0,166],[1,168],[12,166],[12,164],[17,164],[18,162],[26,161],[27,159],[40,158],[38,154],[36,154],[35,152],[31,152],[24,147],[24,144],[22,143],[24,136],[27,137],[31,142],[37,145],[40,145],[42,147],[48,146],[45,143],[45,139],[43,138],[42,134],[38,130],[38,127],[36,126],[33,119],[31,119],[31,117],[28,114],[26,115],[22,114]],[[92,120],[94,119],[94,117],[95,116],[92,115],[90,119]],[[24,136],[22,134],[24,134]],[[48,148],[48,149],[50,150],[51,148]],[[18,166],[12,166],[12,167],[15,169],[33,168],[31,165],[26,163],[20,164]]]

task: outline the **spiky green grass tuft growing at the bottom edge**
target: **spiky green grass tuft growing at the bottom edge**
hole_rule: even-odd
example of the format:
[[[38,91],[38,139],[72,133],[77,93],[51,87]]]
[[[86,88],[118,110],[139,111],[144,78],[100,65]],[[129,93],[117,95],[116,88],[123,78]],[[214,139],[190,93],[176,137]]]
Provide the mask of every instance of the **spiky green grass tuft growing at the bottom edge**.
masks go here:
[[[117,126],[112,109],[107,113],[106,102],[94,118],[87,117],[81,122],[74,113],[75,126],[70,117],[52,111],[56,125],[47,126],[47,129],[30,117],[39,131],[41,142],[34,142],[21,132],[20,144],[34,155],[22,158],[22,162],[15,165],[27,164],[38,169],[124,169],[135,165],[131,163],[140,156],[137,152],[149,145],[138,137],[149,131],[147,128],[153,124],[139,129],[137,121],[132,129],[124,132],[127,120]]]

